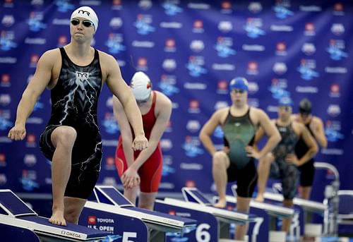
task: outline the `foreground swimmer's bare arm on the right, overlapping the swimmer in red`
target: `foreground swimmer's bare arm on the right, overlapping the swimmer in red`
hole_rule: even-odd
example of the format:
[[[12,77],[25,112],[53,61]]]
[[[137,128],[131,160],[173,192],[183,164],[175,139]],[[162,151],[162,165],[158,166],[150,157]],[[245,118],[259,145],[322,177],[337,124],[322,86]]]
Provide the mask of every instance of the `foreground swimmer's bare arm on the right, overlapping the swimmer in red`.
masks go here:
[[[128,117],[128,121],[133,128],[133,133],[135,134],[133,149],[143,150],[148,147],[148,140],[145,138],[142,116],[136,104],[136,99],[133,97],[131,90],[122,78],[119,65],[114,57],[104,52],[100,52],[100,60],[101,66],[104,66],[107,70],[107,86],[121,102],[126,116]]]

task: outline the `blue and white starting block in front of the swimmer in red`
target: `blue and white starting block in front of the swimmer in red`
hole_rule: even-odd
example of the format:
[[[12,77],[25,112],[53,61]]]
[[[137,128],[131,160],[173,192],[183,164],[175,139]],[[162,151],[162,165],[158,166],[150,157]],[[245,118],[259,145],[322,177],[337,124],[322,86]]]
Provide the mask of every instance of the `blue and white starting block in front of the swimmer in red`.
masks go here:
[[[140,207],[135,207],[130,201],[128,201],[124,195],[122,195],[119,190],[113,186],[95,186],[95,197],[97,202],[88,201],[85,204],[84,215],[80,224],[88,224],[88,219],[85,219],[85,215],[90,217],[101,217],[102,213],[105,215],[116,215],[119,214],[124,217],[129,217],[130,219],[142,221],[147,227],[147,236],[138,236],[138,231],[135,231],[137,228],[136,224],[128,227],[126,226],[126,231],[119,231],[121,236],[124,236],[124,233],[135,233],[134,238],[136,240],[129,241],[164,241],[165,233],[181,233],[189,229],[194,229],[196,226],[196,221],[193,219],[187,219],[184,217],[178,217],[171,214],[165,214],[162,212],[145,210]],[[85,212],[85,210],[90,210]],[[114,215],[114,216],[115,216]],[[108,221],[108,220],[107,220]],[[119,229],[119,226],[126,223],[126,219],[115,222],[117,224],[116,229]],[[116,230],[117,231],[117,230]],[[116,234],[114,231],[114,234]],[[143,232],[145,233],[145,232]],[[139,240],[140,238],[141,240]]]

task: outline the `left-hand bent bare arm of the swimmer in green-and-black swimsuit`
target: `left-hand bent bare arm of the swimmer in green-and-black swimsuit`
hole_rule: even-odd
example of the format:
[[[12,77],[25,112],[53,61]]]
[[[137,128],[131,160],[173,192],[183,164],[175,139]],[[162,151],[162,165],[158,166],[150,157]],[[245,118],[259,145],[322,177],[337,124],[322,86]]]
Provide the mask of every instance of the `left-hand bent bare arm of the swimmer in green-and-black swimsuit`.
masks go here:
[[[217,151],[213,141],[211,140],[211,135],[215,131],[218,125],[222,124],[222,118],[227,114],[229,108],[219,109],[213,113],[213,115],[208,119],[208,121],[201,128],[198,138],[200,138],[203,146],[208,150],[210,155],[214,155]]]

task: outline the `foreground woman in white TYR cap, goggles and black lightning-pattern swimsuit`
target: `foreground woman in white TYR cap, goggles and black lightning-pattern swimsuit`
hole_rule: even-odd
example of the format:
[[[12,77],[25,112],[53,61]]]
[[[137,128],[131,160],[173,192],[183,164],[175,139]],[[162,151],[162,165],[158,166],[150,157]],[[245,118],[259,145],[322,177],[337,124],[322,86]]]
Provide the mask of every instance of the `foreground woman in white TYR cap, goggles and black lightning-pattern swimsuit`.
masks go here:
[[[133,127],[133,149],[148,146],[140,111],[118,63],[113,56],[90,46],[97,27],[92,8],[83,6],[73,11],[71,42],[40,57],[18,104],[15,126],[8,132],[8,138],[23,140],[25,121],[35,102],[46,87],[52,90],[52,115],[40,136],[40,148],[52,160],[52,224],[78,223],[100,173],[102,140],[97,101],[104,82],[122,103]]]

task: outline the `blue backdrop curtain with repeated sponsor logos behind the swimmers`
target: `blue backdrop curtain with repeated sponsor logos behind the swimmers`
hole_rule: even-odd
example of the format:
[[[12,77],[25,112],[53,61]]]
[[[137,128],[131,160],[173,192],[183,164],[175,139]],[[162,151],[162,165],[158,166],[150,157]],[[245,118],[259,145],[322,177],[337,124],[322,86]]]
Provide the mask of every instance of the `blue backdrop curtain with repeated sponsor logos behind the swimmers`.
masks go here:
[[[211,157],[198,140],[210,114],[229,104],[227,83],[249,79],[249,104],[277,116],[277,99],[303,97],[321,117],[328,147],[316,160],[337,167],[342,189],[353,189],[353,5],[350,1],[16,1],[0,3],[0,188],[51,193],[51,164],[38,147],[50,114],[46,90],[28,119],[23,141],[7,138],[16,107],[38,58],[70,41],[78,6],[95,9],[94,47],[112,54],[127,83],[145,71],[173,102],[162,138],[161,193],[197,186],[213,193]],[[119,127],[112,95],[102,90],[99,123],[104,157],[100,183],[119,185],[114,152]],[[213,139],[222,146],[222,131]],[[329,176],[330,174],[328,174]],[[323,190],[313,190],[314,195]]]

